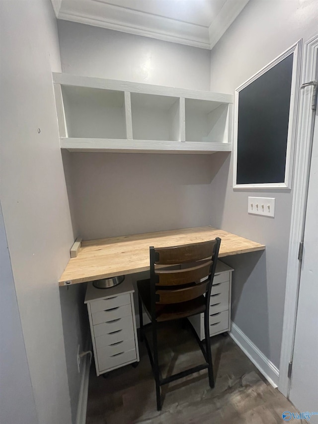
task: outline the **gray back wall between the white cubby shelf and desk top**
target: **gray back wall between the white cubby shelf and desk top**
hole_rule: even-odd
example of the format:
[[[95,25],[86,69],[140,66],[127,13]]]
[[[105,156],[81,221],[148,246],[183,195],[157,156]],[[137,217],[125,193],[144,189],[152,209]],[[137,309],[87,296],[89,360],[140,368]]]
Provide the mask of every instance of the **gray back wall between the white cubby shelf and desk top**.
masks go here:
[[[72,153],[79,234],[90,240],[211,225],[214,156],[228,155]]]

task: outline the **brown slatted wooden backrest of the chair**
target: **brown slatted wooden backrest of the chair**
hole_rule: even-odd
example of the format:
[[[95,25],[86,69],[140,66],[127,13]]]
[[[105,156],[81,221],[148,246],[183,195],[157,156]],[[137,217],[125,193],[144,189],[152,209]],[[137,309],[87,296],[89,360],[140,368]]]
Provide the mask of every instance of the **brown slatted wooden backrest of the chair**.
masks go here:
[[[151,247],[152,304],[187,302],[205,293],[209,299],[220,244],[221,239],[216,238],[168,248]]]

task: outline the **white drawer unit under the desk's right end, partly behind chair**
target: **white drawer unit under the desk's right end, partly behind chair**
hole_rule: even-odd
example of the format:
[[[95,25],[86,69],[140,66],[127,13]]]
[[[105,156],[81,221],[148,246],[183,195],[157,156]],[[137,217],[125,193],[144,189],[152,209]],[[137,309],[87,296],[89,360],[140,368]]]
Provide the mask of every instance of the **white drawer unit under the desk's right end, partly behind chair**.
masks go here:
[[[233,268],[218,260],[211,289],[209,325],[210,337],[231,330],[231,287]],[[204,339],[204,314],[194,315],[188,320],[200,340]]]

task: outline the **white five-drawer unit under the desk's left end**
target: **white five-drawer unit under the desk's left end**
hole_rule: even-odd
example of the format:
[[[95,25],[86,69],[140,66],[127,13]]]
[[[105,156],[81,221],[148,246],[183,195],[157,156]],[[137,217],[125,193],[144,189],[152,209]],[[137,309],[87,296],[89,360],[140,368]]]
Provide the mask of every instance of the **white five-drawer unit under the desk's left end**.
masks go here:
[[[139,361],[133,292],[129,281],[107,289],[87,285],[85,303],[97,375]]]

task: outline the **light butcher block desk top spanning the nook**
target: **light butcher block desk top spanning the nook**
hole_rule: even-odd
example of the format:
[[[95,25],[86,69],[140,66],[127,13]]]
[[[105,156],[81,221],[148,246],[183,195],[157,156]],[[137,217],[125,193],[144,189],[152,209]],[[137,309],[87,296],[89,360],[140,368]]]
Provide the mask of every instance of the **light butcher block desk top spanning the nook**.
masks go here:
[[[59,285],[149,270],[149,247],[168,247],[221,238],[219,257],[264,250],[265,246],[212,227],[184,228],[157,233],[81,242],[77,257],[70,259]]]

